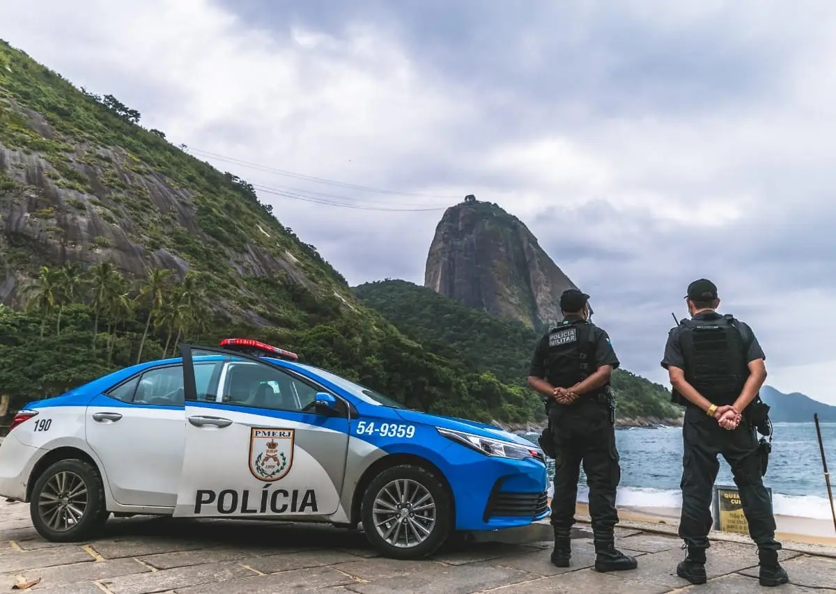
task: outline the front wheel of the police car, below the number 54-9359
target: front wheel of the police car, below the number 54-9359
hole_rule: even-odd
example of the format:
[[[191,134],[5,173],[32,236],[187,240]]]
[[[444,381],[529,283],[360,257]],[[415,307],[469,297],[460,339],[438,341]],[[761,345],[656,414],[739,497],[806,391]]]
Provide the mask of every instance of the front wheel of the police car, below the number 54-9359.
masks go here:
[[[406,496],[400,498],[400,502],[397,501],[396,495],[399,485],[401,489],[407,487]],[[375,501],[379,499],[388,505],[375,509]],[[432,508],[426,508],[430,503]],[[398,505],[402,507],[399,509]],[[412,505],[415,505],[415,510],[412,509]],[[382,555],[393,559],[421,559],[436,552],[450,536],[453,524],[452,509],[451,495],[439,477],[421,466],[398,465],[381,472],[366,488],[360,507],[360,519],[366,538]],[[401,513],[403,515],[400,515]],[[400,522],[397,520],[399,515]],[[381,522],[386,524],[381,526],[380,530],[394,531],[390,535],[393,537],[391,541],[385,538],[385,534],[380,533],[378,525]],[[395,525],[396,523],[400,523],[401,527]],[[425,534],[425,531],[429,533]],[[411,536],[415,543],[406,541],[404,535]],[[423,540],[418,536],[423,536]],[[402,544],[395,544],[402,538]]]

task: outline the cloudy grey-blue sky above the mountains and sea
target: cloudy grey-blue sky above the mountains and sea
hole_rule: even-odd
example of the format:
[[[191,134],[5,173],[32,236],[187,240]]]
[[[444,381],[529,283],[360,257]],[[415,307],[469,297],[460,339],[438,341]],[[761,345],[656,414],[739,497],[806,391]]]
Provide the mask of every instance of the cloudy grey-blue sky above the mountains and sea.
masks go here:
[[[423,282],[472,193],[593,295],[625,368],[665,381],[670,312],[710,277],[767,383],[836,404],[834,33],[836,4],[766,0],[32,0],[0,23],[222,170],[317,197],[262,194],[351,284]]]

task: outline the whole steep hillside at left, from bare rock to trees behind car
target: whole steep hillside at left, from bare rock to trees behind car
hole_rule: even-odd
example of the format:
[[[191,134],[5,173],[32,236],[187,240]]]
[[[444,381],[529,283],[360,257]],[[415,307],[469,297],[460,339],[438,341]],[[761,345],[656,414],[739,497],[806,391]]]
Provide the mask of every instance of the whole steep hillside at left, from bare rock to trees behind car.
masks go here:
[[[0,42],[0,405],[245,336],[410,408],[529,418],[523,388],[400,333],[252,185],[140,119]]]

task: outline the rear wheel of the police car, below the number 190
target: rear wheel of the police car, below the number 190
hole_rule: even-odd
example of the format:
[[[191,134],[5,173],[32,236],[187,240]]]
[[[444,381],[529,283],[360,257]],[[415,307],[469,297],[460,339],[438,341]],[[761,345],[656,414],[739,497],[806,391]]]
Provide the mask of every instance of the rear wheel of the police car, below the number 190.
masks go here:
[[[58,490],[81,492],[76,495],[75,505],[64,506],[64,501],[55,501]],[[82,509],[82,505],[84,505]],[[80,517],[77,517],[79,515]],[[52,512],[52,513],[51,513]],[[50,465],[35,481],[29,502],[29,516],[35,530],[50,542],[86,541],[98,536],[110,513],[105,507],[104,484],[99,470],[80,459],[63,459]],[[68,519],[74,520],[72,524]]]

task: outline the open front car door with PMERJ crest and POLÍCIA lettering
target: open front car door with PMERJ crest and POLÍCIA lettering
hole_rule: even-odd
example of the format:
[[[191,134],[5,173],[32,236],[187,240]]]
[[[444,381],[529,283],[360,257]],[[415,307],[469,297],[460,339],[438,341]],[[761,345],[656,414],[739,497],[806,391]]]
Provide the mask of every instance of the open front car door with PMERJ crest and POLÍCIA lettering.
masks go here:
[[[258,358],[184,345],[186,455],[176,516],[331,515],[338,510],[349,416],[318,408],[325,392]],[[195,371],[222,356],[206,389]]]

